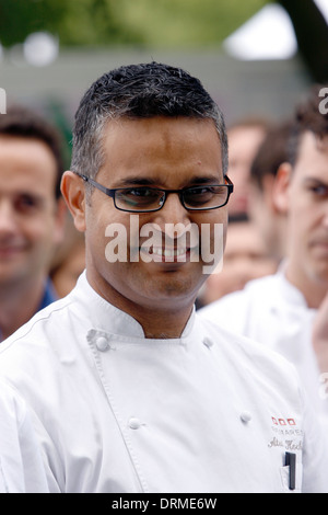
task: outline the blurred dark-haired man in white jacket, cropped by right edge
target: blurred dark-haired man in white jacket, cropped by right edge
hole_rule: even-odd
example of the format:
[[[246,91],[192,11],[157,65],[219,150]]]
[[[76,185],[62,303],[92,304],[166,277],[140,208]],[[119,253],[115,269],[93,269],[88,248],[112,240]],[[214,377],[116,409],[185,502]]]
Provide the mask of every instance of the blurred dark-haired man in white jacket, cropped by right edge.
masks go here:
[[[325,100],[326,92],[326,100]],[[276,275],[206,307],[201,316],[255,339],[291,360],[328,424],[328,89],[314,87],[296,107],[289,162],[274,202],[286,215],[288,256]],[[323,341],[326,340],[326,343]]]

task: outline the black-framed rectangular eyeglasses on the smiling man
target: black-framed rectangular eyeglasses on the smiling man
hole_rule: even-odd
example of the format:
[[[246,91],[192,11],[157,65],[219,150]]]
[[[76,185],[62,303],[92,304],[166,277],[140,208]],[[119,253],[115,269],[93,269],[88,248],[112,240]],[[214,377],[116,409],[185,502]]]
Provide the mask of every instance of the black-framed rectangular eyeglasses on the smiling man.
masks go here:
[[[77,172],[75,172],[77,173]],[[77,173],[105,195],[114,199],[117,209],[128,213],[152,213],[162,209],[171,193],[177,193],[181,205],[190,211],[218,209],[227,204],[234,185],[225,175],[225,184],[190,186],[183,190],[161,190],[152,186],[130,186],[109,190],[94,179]]]

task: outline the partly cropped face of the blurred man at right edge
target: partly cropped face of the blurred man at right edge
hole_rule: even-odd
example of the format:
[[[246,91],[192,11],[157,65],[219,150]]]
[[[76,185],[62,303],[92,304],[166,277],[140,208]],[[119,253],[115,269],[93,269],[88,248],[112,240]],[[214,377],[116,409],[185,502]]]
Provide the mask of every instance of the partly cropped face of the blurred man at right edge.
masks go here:
[[[291,266],[328,287],[328,137],[303,136],[289,186]]]

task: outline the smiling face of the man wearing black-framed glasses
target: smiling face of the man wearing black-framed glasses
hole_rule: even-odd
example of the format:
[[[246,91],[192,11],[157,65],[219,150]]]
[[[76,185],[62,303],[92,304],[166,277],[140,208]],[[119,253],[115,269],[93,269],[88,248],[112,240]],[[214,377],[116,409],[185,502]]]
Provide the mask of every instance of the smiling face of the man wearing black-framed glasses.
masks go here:
[[[105,164],[96,180],[108,188],[151,185],[178,190],[224,183],[221,145],[210,121],[155,117],[110,122],[105,128],[103,148]],[[168,249],[174,252],[179,245],[178,236],[185,232],[184,228],[192,224],[200,239],[201,225],[206,224],[211,229],[209,244],[213,250],[214,224],[224,226],[225,236],[226,207],[192,213],[183,207],[177,194],[169,194],[161,210],[139,214],[138,217],[136,227],[136,218],[131,222],[130,213],[116,209],[112,198],[98,190],[93,191],[90,203],[85,205],[89,281],[107,300],[116,299],[116,304],[118,299],[125,299],[152,309],[190,304],[206,279],[201,256],[191,260],[192,251],[187,249],[179,259],[175,256],[167,262],[160,255],[161,250],[156,249],[157,255],[153,253],[151,261],[145,262],[142,251],[139,251],[143,244],[147,248],[145,240],[151,234],[140,237],[142,228],[156,227],[156,232],[160,230],[162,234],[161,240],[168,237]],[[126,262],[109,263],[105,256],[109,241],[105,236],[109,233],[106,228],[114,227],[113,224],[119,224],[127,230]],[[169,227],[177,224],[179,234],[169,234]],[[140,237],[137,249],[136,236]],[[189,247],[194,245],[195,241]]]

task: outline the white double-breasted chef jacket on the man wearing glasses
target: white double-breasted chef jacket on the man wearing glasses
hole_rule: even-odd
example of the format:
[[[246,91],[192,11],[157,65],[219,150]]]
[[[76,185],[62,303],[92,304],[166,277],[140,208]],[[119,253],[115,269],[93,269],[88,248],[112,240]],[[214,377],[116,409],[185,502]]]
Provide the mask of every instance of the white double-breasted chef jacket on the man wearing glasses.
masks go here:
[[[327,492],[324,440],[294,368],[194,311],[145,339],[83,274],[0,347],[24,397],[50,492]]]

